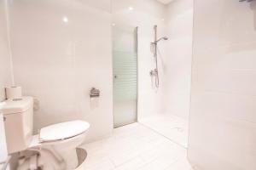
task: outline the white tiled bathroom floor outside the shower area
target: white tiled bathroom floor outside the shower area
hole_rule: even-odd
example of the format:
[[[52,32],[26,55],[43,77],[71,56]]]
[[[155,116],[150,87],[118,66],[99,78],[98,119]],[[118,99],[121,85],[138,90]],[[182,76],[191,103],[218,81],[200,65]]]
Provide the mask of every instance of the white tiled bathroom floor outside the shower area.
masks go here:
[[[84,170],[190,170],[186,150],[140,123],[113,130],[113,135],[82,146]]]

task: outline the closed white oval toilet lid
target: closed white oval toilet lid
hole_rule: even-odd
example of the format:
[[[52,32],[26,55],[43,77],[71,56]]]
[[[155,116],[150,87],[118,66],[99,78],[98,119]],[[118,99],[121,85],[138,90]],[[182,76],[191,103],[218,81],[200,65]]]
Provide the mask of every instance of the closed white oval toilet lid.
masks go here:
[[[90,124],[84,121],[61,122],[43,127],[39,133],[40,142],[68,139],[84,133]]]

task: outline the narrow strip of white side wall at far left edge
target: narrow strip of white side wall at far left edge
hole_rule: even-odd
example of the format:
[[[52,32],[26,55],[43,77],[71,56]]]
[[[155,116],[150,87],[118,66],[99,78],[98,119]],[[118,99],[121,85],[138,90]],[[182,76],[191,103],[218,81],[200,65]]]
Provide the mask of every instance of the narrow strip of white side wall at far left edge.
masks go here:
[[[12,84],[11,60],[9,54],[6,2],[0,1],[0,102],[5,99],[4,88]]]

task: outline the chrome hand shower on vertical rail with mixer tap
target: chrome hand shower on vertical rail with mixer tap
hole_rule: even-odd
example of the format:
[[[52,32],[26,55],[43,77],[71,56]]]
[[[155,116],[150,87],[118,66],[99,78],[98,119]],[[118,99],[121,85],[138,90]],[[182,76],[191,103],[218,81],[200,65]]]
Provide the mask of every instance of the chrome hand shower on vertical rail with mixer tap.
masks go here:
[[[154,26],[154,42],[151,42],[151,51],[154,54],[155,69],[150,71],[150,76],[154,77],[155,88],[159,88],[159,71],[158,71],[158,59],[157,59],[157,44],[161,40],[168,40],[168,37],[157,38],[157,26]]]

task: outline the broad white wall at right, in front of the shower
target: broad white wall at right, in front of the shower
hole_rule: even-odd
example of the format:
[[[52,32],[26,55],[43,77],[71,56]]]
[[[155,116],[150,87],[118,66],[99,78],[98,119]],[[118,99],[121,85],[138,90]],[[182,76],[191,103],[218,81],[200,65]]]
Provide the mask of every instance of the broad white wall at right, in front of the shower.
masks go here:
[[[195,0],[189,160],[256,169],[256,3]]]

